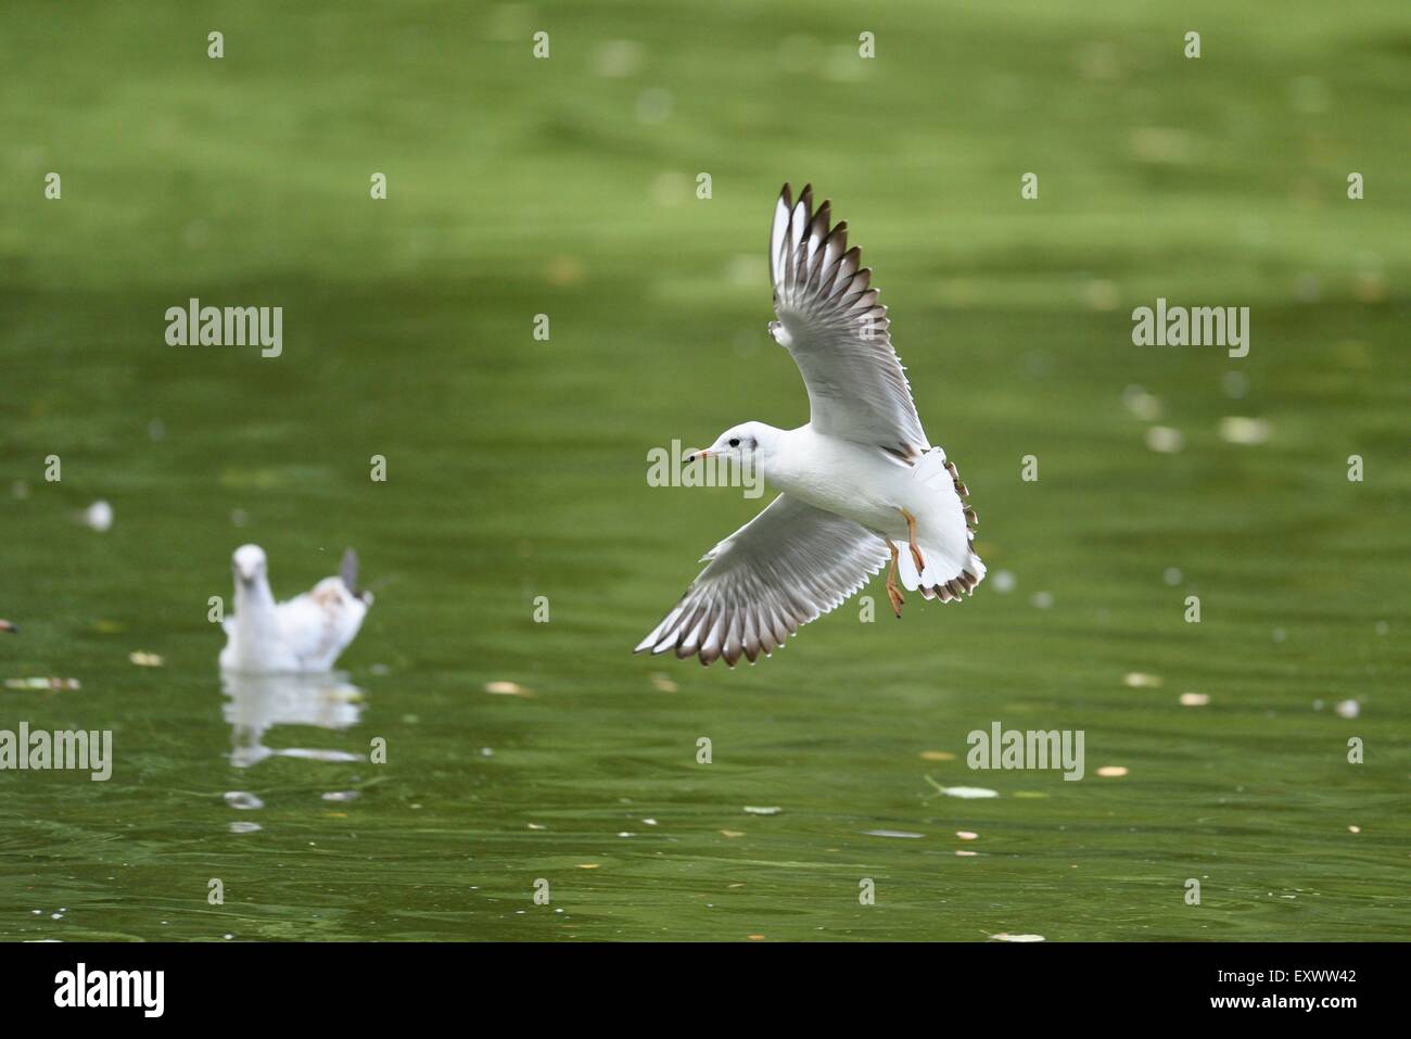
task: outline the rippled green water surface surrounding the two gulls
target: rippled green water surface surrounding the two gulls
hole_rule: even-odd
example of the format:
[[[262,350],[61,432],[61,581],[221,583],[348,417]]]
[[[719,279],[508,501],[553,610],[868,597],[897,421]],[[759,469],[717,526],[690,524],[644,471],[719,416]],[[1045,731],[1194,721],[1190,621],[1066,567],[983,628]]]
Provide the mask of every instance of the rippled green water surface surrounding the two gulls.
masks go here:
[[[1394,0],[6,6],[0,675],[80,687],[0,728],[114,764],[0,772],[0,937],[1404,937],[1408,55]],[[634,658],[761,505],[646,452],[807,418],[785,179],[865,247],[991,577]],[[282,306],[282,356],[166,346],[190,296]],[[1249,356],[1132,346],[1157,296],[1250,306]],[[281,597],[357,546],[343,686],[223,692],[246,541]],[[238,768],[251,719],[360,759]],[[1085,778],[967,768],[993,721]]]

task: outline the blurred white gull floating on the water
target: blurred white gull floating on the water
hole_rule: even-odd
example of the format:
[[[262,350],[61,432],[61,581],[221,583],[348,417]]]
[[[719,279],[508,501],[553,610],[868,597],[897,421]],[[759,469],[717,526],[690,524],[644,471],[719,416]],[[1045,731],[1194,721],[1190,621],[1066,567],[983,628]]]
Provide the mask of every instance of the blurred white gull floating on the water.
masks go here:
[[[247,675],[309,673],[333,668],[363,627],[371,591],[357,590],[357,553],[347,549],[337,577],[325,577],[312,591],[275,603],[265,553],[241,545],[231,556],[236,613],[224,620],[222,671]]]

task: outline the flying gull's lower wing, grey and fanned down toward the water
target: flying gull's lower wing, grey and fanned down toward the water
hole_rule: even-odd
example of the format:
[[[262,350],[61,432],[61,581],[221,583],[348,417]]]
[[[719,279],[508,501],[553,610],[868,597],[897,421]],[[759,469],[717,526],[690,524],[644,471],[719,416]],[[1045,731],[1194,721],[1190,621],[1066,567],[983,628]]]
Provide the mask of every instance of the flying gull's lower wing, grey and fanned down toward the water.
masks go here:
[[[634,652],[753,663],[847,601],[888,558],[875,534],[780,494],[706,553],[710,565]]]

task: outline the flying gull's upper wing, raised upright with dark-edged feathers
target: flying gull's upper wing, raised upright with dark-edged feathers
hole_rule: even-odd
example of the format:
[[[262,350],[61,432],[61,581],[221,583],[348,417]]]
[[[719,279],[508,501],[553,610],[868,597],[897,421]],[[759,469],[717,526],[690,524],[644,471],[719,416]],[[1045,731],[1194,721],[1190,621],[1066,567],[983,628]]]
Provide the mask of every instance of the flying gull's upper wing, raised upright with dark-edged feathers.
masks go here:
[[[779,315],[769,332],[803,373],[814,429],[913,460],[930,443],[892,349],[886,308],[869,288],[862,251],[848,248],[848,226],[828,220],[828,202],[813,210],[811,188],[793,203],[785,185],[769,236]]]

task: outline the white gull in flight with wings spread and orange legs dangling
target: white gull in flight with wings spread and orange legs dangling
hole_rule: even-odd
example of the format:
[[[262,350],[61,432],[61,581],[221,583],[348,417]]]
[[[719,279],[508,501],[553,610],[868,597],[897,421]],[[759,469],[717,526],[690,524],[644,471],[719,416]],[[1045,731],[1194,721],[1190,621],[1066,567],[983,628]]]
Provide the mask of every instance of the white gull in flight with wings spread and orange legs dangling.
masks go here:
[[[848,248],[847,224],[830,220],[828,202],[814,209],[807,186],[794,202],[786,184],[769,236],[777,315],[769,333],[803,374],[809,424],[745,422],[686,456],[727,457],[782,494],[704,555],[706,569],[635,652],[753,663],[889,559],[897,617],[899,573],[909,591],[943,603],[971,594],[985,576],[969,491],[926,439],[872,271]]]

